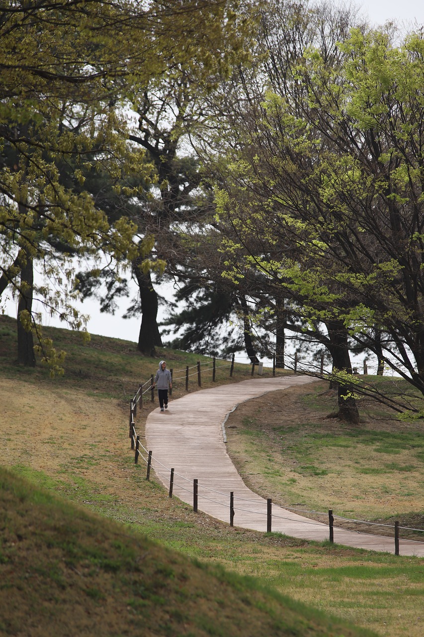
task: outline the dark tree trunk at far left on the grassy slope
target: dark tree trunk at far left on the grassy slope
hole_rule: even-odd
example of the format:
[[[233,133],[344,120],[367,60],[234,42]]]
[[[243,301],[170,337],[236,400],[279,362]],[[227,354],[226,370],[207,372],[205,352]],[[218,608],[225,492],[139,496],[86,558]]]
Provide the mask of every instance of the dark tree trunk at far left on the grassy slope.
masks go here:
[[[27,367],[36,366],[36,358],[34,354],[34,337],[32,331],[27,331],[21,322],[21,313],[23,311],[32,312],[32,294],[34,284],[34,269],[32,258],[25,255],[22,251],[21,257],[25,259],[20,271],[20,294],[18,301],[18,363]]]

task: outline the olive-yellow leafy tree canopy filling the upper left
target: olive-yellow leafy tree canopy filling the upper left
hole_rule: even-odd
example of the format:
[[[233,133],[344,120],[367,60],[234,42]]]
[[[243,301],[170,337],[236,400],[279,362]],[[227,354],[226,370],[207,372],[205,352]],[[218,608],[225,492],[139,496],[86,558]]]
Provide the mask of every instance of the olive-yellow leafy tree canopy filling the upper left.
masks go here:
[[[250,29],[238,9],[237,2],[212,0],[2,3],[0,294],[9,286],[20,297],[25,333],[39,335],[34,262],[54,280],[35,290],[39,299],[74,327],[82,323],[68,303],[71,256],[101,250],[115,262],[146,262],[151,238],[139,236],[127,217],[111,223],[83,183],[99,171],[122,189],[123,176],[138,174],[139,185],[124,184],[125,194],[137,197],[155,180],[145,153],[128,143],[134,95],[181,64],[211,84],[227,73],[245,55]],[[40,342],[54,368],[55,352]],[[22,362],[31,364],[31,350],[30,340]]]

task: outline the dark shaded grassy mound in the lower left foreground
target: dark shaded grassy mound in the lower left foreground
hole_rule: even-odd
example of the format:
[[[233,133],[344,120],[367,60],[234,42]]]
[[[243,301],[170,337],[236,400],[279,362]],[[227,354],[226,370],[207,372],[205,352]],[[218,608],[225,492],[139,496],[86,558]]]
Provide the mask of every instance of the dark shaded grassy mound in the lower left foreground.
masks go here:
[[[360,637],[0,469],[0,634]]]

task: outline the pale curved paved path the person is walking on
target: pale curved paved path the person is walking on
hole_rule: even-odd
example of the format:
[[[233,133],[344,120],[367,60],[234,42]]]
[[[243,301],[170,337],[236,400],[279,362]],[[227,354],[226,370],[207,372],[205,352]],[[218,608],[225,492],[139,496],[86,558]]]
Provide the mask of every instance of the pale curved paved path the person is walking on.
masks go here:
[[[146,448],[152,450],[152,466],[169,489],[174,468],[173,495],[193,505],[193,480],[199,482],[198,508],[229,522],[230,492],[234,492],[234,526],[267,530],[267,501],[248,489],[225,448],[227,415],[237,404],[290,385],[313,382],[309,376],[255,378],[213,389],[204,389],[169,401],[148,415]],[[272,505],[272,531],[305,540],[328,540],[329,527]],[[334,527],[334,541],[350,547],[394,552],[393,538],[355,533]],[[424,556],[424,542],[400,540],[401,555]]]

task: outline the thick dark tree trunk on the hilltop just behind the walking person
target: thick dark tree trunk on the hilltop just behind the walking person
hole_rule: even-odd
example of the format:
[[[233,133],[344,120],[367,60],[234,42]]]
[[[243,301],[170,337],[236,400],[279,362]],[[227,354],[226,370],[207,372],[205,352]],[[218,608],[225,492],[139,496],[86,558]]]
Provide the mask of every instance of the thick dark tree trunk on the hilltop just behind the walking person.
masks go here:
[[[141,327],[138,336],[138,350],[142,354],[155,356],[155,347],[162,347],[159,327],[157,326],[157,292],[153,288],[150,272],[143,273],[134,268],[141,300]]]

